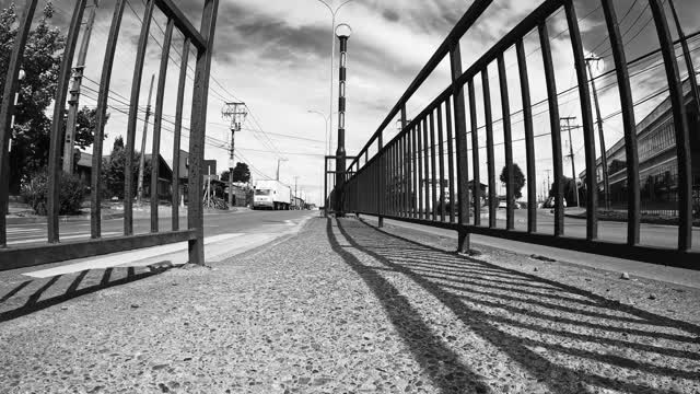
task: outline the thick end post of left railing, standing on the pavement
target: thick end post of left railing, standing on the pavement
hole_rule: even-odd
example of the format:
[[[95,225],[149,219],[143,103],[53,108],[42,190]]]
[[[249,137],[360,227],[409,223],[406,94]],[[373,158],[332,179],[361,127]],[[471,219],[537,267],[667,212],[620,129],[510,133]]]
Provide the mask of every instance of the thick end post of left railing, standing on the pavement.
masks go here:
[[[205,136],[207,132],[207,97],[209,95],[209,76],[213,53],[214,32],[219,0],[206,0],[201,16],[200,33],[207,40],[207,48],[197,51],[195,88],[192,97],[192,117],[189,131],[189,202],[187,207],[187,227],[192,231],[189,241],[189,263],[205,264],[205,217],[202,212],[202,161],[205,157]]]

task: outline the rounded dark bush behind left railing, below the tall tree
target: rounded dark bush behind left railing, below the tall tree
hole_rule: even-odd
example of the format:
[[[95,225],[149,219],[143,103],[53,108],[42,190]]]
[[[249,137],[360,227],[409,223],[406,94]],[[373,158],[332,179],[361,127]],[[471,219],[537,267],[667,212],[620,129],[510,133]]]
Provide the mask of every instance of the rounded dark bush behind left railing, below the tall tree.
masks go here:
[[[83,202],[85,186],[77,175],[61,173],[59,176],[59,215],[69,215],[80,211]],[[47,215],[48,204],[48,176],[46,171],[40,171],[31,177],[31,181],[22,185],[22,198],[32,207],[36,215]]]

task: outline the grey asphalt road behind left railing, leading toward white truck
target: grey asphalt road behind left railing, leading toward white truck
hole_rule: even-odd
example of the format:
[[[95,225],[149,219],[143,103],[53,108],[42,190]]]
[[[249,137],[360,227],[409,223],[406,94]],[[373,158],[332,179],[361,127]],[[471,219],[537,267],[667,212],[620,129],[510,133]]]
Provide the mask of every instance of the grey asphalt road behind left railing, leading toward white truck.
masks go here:
[[[236,212],[212,212],[205,215],[205,236],[212,236],[235,232],[270,232],[271,227],[287,221],[298,222],[299,219],[308,216],[311,211],[271,211],[271,210],[243,210]],[[180,229],[187,228],[187,217],[179,218]],[[160,218],[159,229],[170,231],[171,218]],[[133,233],[144,234],[151,230],[149,218],[133,219]],[[272,230],[273,232],[273,230]],[[103,220],[102,233],[104,237],[120,236],[124,234],[124,219]],[[45,223],[10,224],[8,225],[8,245],[27,246],[46,242]],[[89,221],[61,222],[59,237],[63,242],[72,242],[90,239]]]

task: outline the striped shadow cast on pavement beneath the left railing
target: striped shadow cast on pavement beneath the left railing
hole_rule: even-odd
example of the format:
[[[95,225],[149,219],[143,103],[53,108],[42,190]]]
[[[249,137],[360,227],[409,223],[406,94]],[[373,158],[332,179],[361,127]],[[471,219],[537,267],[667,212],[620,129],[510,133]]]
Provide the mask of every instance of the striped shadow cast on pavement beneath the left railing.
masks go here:
[[[115,269],[125,270],[126,275],[115,279],[115,276],[117,274],[115,273]],[[89,274],[92,273],[98,275],[100,271],[94,269],[85,269],[80,271],[74,278],[72,278],[72,281],[65,291],[60,291],[57,282],[60,279],[66,278],[66,276],[56,275],[48,279],[38,289],[34,290],[28,297],[26,297],[26,302],[22,303],[23,298],[19,296],[19,293],[21,293],[23,289],[27,288],[33,282],[39,279],[26,280],[0,298],[0,323],[25,316],[27,314],[47,309],[49,306],[58,305],[68,300],[90,294],[98,290],[145,279],[154,275],[159,275],[165,269],[158,268],[151,269],[149,267],[106,268],[104,269],[100,281],[95,282],[94,285],[89,285],[86,287],[80,288],[81,283],[84,285],[83,280]],[[70,280],[70,278],[68,280]],[[49,293],[48,297],[42,299],[42,297],[46,296],[47,293]],[[5,303],[9,303],[10,305],[5,305]],[[14,306],[12,305],[13,303],[18,303],[18,305]]]

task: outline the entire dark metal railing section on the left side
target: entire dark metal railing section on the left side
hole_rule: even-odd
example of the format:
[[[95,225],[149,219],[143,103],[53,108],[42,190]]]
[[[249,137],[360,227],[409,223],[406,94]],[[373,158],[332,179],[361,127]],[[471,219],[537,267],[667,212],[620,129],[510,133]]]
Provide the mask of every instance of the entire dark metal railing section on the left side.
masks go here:
[[[177,109],[174,130],[173,146],[173,217],[172,229],[170,231],[159,231],[158,220],[158,198],[151,198],[151,233],[133,234],[133,160],[126,161],[125,169],[125,199],[124,199],[124,236],[102,239],[101,234],[101,167],[103,162],[103,137],[105,116],[107,111],[107,99],[109,84],[115,62],[115,51],[117,38],[121,27],[121,20],[127,0],[116,0],[114,14],[107,37],[102,79],[97,97],[97,121],[94,132],[94,146],[92,155],[92,178],[91,178],[91,239],[78,242],[59,243],[59,178],[61,173],[61,136],[63,132],[65,104],[69,93],[69,81],[73,55],[80,35],[83,13],[88,0],[75,0],[69,31],[66,39],[66,47],[62,55],[61,66],[58,73],[58,89],[55,96],[54,117],[50,128],[50,150],[48,153],[48,196],[47,196],[47,243],[39,246],[15,247],[8,246],[7,243],[7,220],[9,182],[9,140],[11,138],[11,119],[14,111],[14,97],[19,88],[18,77],[23,61],[23,54],[30,34],[30,28],[38,0],[27,0],[23,11],[20,26],[12,48],[9,69],[5,77],[4,91],[0,107],[0,270],[12,269],[23,266],[38,265],[50,262],[66,260],[72,258],[88,257],[100,254],[114,253],[125,250],[148,247],[166,243],[185,242],[189,243],[189,262],[203,264],[203,212],[202,212],[202,174],[201,164],[203,160],[207,96],[209,93],[209,74],[211,68],[212,45],[214,38],[217,13],[219,0],[203,1],[203,12],[201,16],[200,30],[195,28],[187,16],[175,5],[172,0],[148,0],[145,1],[144,14],[141,20],[141,33],[139,36],[136,66],[133,70],[131,99],[128,115],[127,128],[127,154],[133,159],[135,138],[137,127],[137,115],[141,78],[145,61],[147,44],[151,28],[153,12],[158,8],[167,18],[165,38],[162,45],[162,55],[159,72],[159,84],[155,107],[155,129],[153,132],[153,158],[160,153],[160,131],[161,115],[164,102],[165,78],[167,72],[167,61],[170,58],[171,44],[175,30],[179,31],[184,38],[182,63],[179,68],[179,82],[177,92]],[[180,135],[183,129],[183,106],[185,94],[185,79],[188,65],[188,55],[191,48],[196,53],[195,84],[192,93],[191,125],[189,135],[189,171],[188,171],[188,222],[187,230],[180,230],[178,223],[178,162],[180,149]],[[151,190],[158,189],[159,165],[152,166]]]

